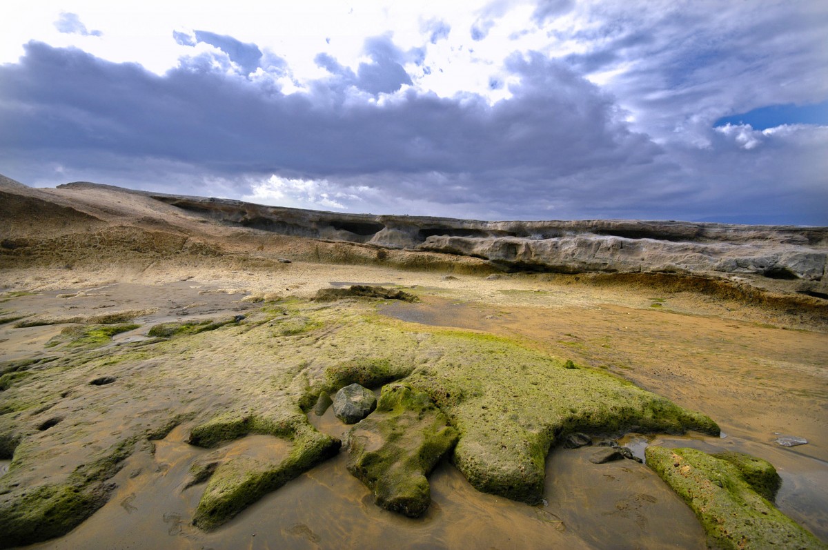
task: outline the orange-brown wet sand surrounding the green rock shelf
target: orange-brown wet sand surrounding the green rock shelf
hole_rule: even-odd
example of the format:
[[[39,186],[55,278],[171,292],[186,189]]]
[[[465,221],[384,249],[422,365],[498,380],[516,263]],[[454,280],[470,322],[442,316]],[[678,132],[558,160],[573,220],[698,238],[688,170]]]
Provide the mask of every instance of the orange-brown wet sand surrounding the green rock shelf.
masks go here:
[[[152,310],[143,329],[115,343],[144,337],[152,323],[238,314],[245,296],[282,288],[296,294],[347,281],[399,282],[391,270],[301,266],[302,273],[265,282],[227,274],[221,281],[156,280],[51,287],[15,297],[3,309],[71,315]],[[293,277],[293,278],[291,278]],[[183,277],[182,277],[183,278]],[[640,453],[649,442],[746,451],[771,461],[782,475],[777,504],[828,540],[828,335],[782,330],[715,316],[714,305],[643,291],[619,293],[536,279],[484,281],[414,273],[420,304],[394,302],[380,311],[426,325],[483,330],[522,339],[561,359],[605,368],[676,403],[709,414],[727,437],[629,436]],[[292,287],[292,288],[291,288]],[[541,287],[541,292],[535,292]],[[425,289],[425,290],[424,290]],[[233,292],[233,293],[230,293]],[[62,297],[59,297],[62,296]],[[673,303],[671,303],[673,301]],[[660,306],[651,307],[653,303]],[[694,309],[695,308],[695,309]],[[7,359],[41,357],[61,326],[0,326]],[[163,391],[160,392],[163,394]],[[169,397],[169,396],[166,396]],[[165,397],[165,398],[166,398]],[[134,403],[152,408],[153,396]],[[311,415],[312,416],[312,415]],[[311,418],[320,430],[342,432],[330,410]],[[474,490],[449,463],[432,473],[432,504],[421,519],[379,509],[345,470],[344,454],[326,461],[246,509],[213,533],[190,525],[205,485],[184,489],[190,466],[210,453],[185,443],[191,423],[130,456],[113,478],[108,504],[63,538],[30,548],[705,548],[705,533],[685,504],[646,466],[589,462],[591,447],[554,449],[546,464],[546,502],[532,507]],[[108,428],[107,428],[108,429]],[[784,448],[774,432],[806,437]],[[287,451],[281,440],[245,437],[218,452]],[[624,442],[624,441],[622,441]],[[7,462],[6,462],[7,464]],[[0,463],[0,471],[3,464]],[[56,467],[56,466],[55,466]]]

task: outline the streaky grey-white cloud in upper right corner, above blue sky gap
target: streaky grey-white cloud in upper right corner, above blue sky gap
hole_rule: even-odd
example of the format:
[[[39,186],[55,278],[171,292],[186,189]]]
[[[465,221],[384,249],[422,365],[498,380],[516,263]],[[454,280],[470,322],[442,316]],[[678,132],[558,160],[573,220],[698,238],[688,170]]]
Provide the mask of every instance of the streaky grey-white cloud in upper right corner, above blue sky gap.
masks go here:
[[[576,3],[575,24],[544,28],[575,51],[563,55],[573,70],[619,98],[633,128],[657,142],[710,147],[723,117],[828,98],[825,2],[644,6]]]

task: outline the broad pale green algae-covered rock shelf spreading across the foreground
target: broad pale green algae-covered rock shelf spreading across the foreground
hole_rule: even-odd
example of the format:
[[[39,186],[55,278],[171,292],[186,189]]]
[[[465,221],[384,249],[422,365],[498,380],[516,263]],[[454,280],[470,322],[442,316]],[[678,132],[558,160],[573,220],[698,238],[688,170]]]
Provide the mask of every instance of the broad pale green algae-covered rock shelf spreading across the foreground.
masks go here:
[[[145,342],[140,351],[132,346],[110,347],[106,353],[79,350],[53,364],[36,365],[38,384],[22,379],[10,395],[4,393],[4,406],[13,403],[15,411],[46,406],[66,391],[65,376],[71,376],[73,384],[83,384],[76,390],[83,392],[89,379],[107,374],[123,380],[123,395],[130,399],[143,399],[161,384],[164,391],[169,388],[171,401],[148,411],[146,421],[163,432],[171,416],[195,410],[203,422],[190,431],[194,445],[214,448],[250,434],[291,441],[289,456],[282,461],[231,459],[200,472],[200,480],[208,483],[194,522],[204,529],[226,522],[268,491],[335,454],[339,441],[315,432],[303,411],[313,407],[321,392],[352,383],[376,388],[400,381],[413,394],[426,396],[435,414],[445,415],[445,433],[455,431],[460,438],[453,459],[472,485],[527,502],[541,498],[546,454],[568,432],[718,432],[703,415],[595,369],[566,369],[515,340],[387,320],[364,301],[323,309],[293,300],[279,307],[325,329],[295,337],[274,335],[272,326],[253,322],[243,323],[243,330],[209,331],[234,320],[218,326],[213,321],[164,324],[156,337],[165,340]],[[123,401],[119,393],[88,394],[87,412],[79,414],[89,419],[99,410],[118,410]],[[196,400],[193,408],[183,400],[189,393]],[[0,427],[14,426],[13,416],[0,416]],[[12,483],[20,471],[36,470],[33,451],[50,437],[55,437],[51,430],[39,439],[23,433],[22,445],[32,452],[16,452],[19,467],[2,481]],[[113,441],[112,432],[94,437],[99,446]],[[429,449],[426,445],[426,457],[438,454]],[[132,447],[116,451],[113,456],[128,456]],[[99,460],[92,454],[89,451],[86,463]],[[402,462],[404,453],[399,458]],[[89,483],[121,460],[89,470]],[[429,468],[421,468],[425,476]],[[393,475],[388,477],[393,486]],[[15,490],[0,495],[0,505],[14,505],[22,498]],[[399,511],[405,513],[405,506]]]

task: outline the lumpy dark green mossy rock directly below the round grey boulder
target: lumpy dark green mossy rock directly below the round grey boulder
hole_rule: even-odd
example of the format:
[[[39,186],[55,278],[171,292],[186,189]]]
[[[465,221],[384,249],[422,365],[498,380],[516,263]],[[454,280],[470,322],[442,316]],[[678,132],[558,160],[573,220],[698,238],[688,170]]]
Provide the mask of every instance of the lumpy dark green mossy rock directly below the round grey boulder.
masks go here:
[[[426,393],[388,385],[376,412],[349,432],[348,470],[373,491],[379,506],[420,516],[431,503],[426,475],[457,441],[446,422]]]

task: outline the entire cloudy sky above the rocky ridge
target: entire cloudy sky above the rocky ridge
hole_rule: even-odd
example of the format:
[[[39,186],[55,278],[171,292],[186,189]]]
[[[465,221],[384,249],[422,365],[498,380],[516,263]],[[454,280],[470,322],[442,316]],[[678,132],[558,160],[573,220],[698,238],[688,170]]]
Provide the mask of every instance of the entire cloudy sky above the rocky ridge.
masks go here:
[[[0,2],[0,174],[315,210],[828,225],[828,2]]]

